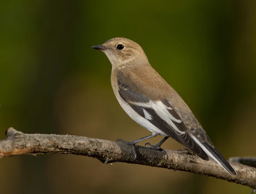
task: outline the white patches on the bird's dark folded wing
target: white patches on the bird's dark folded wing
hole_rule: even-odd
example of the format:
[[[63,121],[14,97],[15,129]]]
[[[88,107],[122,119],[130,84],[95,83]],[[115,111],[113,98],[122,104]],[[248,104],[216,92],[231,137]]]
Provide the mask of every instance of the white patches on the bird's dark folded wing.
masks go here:
[[[161,118],[163,119],[166,123],[168,123],[169,126],[171,126],[173,129],[175,129],[175,132],[178,134],[178,135],[181,135],[181,134],[185,134],[186,131],[180,131],[177,126],[175,125],[175,123],[173,122],[176,122],[176,123],[181,123],[182,121],[181,120],[178,120],[176,119],[175,117],[173,117],[173,115],[168,111],[168,110],[172,110],[171,107],[167,107],[165,106],[161,101],[152,101],[152,100],[149,100],[148,103],[137,103],[137,102],[129,102],[131,104],[134,104],[136,106],[142,106],[142,107],[145,107],[145,108],[152,108],[154,109],[154,111],[156,112],[156,114]],[[145,114],[145,118],[148,119],[148,115],[150,116],[150,119],[149,120],[152,120],[154,118],[152,118],[152,116],[150,114],[148,114],[147,111],[145,111],[143,109],[143,112]],[[146,112],[146,113],[145,113]],[[148,118],[147,118],[148,117]]]

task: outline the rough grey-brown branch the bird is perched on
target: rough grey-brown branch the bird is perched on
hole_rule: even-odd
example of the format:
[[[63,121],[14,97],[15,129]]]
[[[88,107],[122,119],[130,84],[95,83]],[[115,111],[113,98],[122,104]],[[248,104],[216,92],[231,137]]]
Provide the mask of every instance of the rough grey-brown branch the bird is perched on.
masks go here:
[[[0,158],[23,154],[76,154],[97,158],[102,163],[122,162],[194,172],[256,189],[256,168],[232,163],[237,172],[233,176],[215,161],[202,160],[188,151],[166,150],[169,154],[166,160],[163,152],[136,145],[137,158],[133,160],[131,146],[109,140],[71,135],[24,134],[14,128],[9,128],[6,135],[5,140],[0,140]]]

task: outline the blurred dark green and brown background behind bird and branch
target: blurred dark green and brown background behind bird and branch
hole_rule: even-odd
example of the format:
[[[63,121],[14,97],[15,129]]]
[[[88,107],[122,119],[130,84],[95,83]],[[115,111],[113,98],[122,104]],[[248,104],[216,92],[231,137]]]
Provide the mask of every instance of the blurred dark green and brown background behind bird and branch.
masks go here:
[[[150,134],[119,106],[111,63],[90,48],[126,37],[142,46],[224,157],[256,156],[256,1],[9,0],[0,3],[0,24],[0,139],[10,126],[113,141]],[[251,191],[198,174],[75,155],[5,158],[0,172],[1,194]]]

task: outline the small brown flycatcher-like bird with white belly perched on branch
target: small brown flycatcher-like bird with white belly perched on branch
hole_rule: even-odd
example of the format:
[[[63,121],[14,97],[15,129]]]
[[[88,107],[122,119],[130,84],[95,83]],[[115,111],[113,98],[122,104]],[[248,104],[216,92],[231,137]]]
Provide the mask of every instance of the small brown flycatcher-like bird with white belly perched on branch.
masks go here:
[[[209,160],[211,157],[229,174],[236,175],[234,168],[214,147],[189,106],[150,65],[139,44],[116,37],[92,48],[103,51],[112,64],[111,85],[120,106],[135,122],[152,132],[134,141],[119,140],[134,146],[162,135],[163,140],[156,145],[146,143],[161,149],[160,146],[171,137],[201,159]]]

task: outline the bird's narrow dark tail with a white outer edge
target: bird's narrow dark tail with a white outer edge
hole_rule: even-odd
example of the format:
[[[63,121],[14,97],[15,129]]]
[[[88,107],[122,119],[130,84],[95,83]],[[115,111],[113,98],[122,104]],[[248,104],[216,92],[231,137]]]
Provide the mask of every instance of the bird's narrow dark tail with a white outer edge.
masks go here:
[[[192,138],[209,157],[220,164],[229,174],[236,175],[234,168],[230,165],[230,163],[227,162],[227,160],[218,152],[215,147],[209,145],[208,143],[201,143],[193,136]]]

